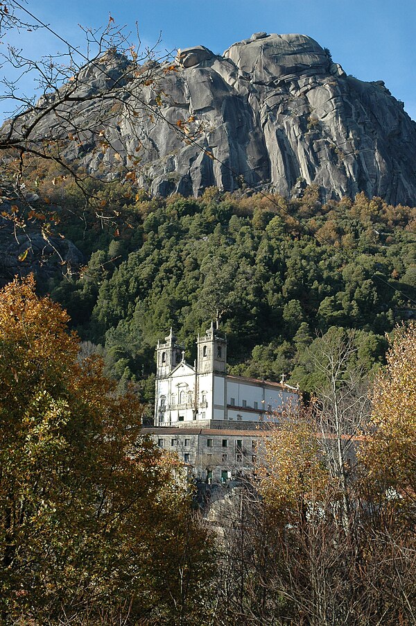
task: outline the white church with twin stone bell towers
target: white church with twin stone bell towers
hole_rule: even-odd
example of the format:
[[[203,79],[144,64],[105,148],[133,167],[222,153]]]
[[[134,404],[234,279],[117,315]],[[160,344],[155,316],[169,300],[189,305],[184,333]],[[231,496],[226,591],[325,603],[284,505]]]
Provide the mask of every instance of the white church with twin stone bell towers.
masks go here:
[[[196,343],[193,365],[172,330],[157,344],[155,426],[253,428],[265,419],[279,421],[284,409],[298,405],[297,389],[283,380],[227,374],[227,339],[214,323]]]

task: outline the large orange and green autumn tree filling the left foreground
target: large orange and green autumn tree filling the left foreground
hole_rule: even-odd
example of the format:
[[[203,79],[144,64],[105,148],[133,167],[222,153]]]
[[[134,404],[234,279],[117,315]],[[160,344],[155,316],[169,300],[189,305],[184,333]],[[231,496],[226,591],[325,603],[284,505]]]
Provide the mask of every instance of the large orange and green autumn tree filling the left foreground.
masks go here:
[[[187,623],[210,561],[180,468],[67,322],[31,277],[1,291],[1,618]]]

